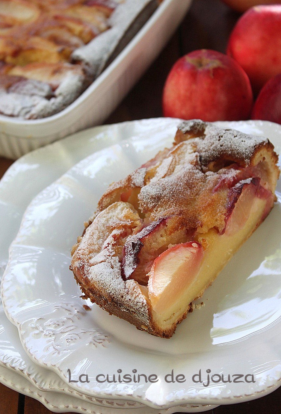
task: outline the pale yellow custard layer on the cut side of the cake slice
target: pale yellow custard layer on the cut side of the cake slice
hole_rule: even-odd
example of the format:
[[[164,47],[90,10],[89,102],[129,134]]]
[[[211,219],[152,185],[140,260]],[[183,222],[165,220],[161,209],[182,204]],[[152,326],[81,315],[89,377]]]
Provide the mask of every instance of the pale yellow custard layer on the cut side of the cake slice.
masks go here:
[[[206,246],[197,274],[191,279],[190,284],[185,283],[185,279],[188,279],[188,268],[185,268],[184,274],[174,274],[171,284],[179,286],[179,289],[174,292],[173,296],[165,296],[160,306],[161,298],[159,298],[158,303],[156,302],[159,312],[153,311],[153,317],[163,330],[170,326],[171,323],[178,321],[181,315],[186,312],[187,304],[202,296],[205,289],[214,281],[228,260],[232,258],[236,250],[250,237],[262,221],[262,216],[267,209],[269,200],[255,197],[251,201],[252,205],[249,206],[248,200],[243,200],[245,208],[250,207],[248,209],[249,217],[245,224],[240,229],[236,229],[234,233],[226,231],[224,234],[219,234],[214,229],[211,229],[204,235],[197,235],[196,239],[199,243],[202,242],[202,245]],[[240,208],[241,206],[234,208],[230,220],[232,218],[234,221],[237,215],[237,219],[240,220],[240,211],[238,211]],[[178,281],[176,279],[182,280]],[[150,296],[151,293],[149,292]]]

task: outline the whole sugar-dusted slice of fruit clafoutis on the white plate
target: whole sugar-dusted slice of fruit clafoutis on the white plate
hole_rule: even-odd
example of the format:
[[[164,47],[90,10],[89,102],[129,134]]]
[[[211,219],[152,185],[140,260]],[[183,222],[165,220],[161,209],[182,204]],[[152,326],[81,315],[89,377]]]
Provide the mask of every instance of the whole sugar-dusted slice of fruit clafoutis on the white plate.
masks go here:
[[[110,314],[169,338],[274,205],[274,146],[211,123],[182,123],[173,147],[110,185],[70,269]]]

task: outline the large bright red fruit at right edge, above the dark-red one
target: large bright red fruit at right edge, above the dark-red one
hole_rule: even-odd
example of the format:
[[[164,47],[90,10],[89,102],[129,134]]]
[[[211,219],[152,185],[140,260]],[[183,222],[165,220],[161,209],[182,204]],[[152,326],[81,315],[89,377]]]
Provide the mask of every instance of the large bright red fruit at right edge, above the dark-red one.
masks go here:
[[[238,20],[227,54],[250,78],[254,91],[281,72],[281,5],[252,7]]]

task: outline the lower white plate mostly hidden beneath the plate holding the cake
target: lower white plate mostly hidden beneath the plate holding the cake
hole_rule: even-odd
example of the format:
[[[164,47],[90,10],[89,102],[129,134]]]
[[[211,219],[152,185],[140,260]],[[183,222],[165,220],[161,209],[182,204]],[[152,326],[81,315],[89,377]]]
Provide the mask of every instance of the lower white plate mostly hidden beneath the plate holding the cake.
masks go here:
[[[159,121],[160,120],[157,120],[157,125],[159,125]],[[174,120],[174,122],[176,124],[178,121]],[[171,125],[171,121],[168,121],[168,123]],[[163,119],[163,128],[165,128],[166,124],[167,120]],[[106,147],[106,145],[110,143],[119,142],[126,136],[142,134],[144,131],[147,132],[150,128],[152,131],[155,130],[154,120],[134,121],[133,123],[128,122],[120,123],[118,125],[91,128],[82,133],[74,134],[58,143],[31,152],[16,161],[0,181],[0,228],[2,229],[1,233],[4,236],[1,238],[2,243],[0,248],[2,263],[2,267],[0,267],[0,277],[2,276],[1,270],[4,271],[5,265],[7,264],[8,246],[19,229],[24,209],[39,190],[42,190],[48,183],[55,178],[58,178],[62,171],[67,169],[67,167],[70,167],[70,165],[75,164],[77,160],[88,155],[89,152],[93,152],[101,147]],[[79,141],[78,148],[77,141]],[[30,185],[28,185],[28,183],[30,183]],[[24,191],[22,190],[23,188]],[[72,390],[60,379],[60,377],[58,377],[58,375],[37,366],[36,363],[26,355],[22,348],[22,344],[19,341],[17,328],[5,317],[2,302],[0,304],[0,321],[0,365],[25,377],[32,385],[35,385],[40,392],[60,392],[66,395],[72,395],[73,398],[83,399],[87,402],[109,407],[111,409],[113,407],[118,409],[122,407],[122,409],[126,409],[126,412],[128,409],[132,409],[132,407],[134,407],[134,409],[142,407],[142,404],[137,402],[122,402],[120,400],[115,402],[108,399],[97,400],[94,397],[89,397]],[[10,374],[6,373],[5,378],[7,378],[7,375]],[[21,381],[21,378],[19,378],[17,381],[18,386],[22,386]],[[31,388],[33,388],[32,385]],[[26,387],[24,389],[26,389]],[[30,395],[30,393],[26,395]],[[32,392],[32,395],[36,394]],[[40,396],[41,393],[38,395]],[[50,398],[50,394],[48,394],[48,399],[50,400]],[[63,399],[65,399],[65,397],[62,396],[60,404],[62,404]],[[45,400],[46,398],[44,398],[44,401]],[[79,404],[82,403],[77,402],[75,405],[79,406]],[[84,412],[85,404],[83,403],[82,405],[82,412]],[[63,406],[62,411],[65,411],[65,408],[68,408],[68,406]],[[214,408],[214,406],[191,407],[187,405],[184,408],[185,410],[188,410],[188,412],[194,412],[195,409],[204,411],[205,409]],[[183,409],[183,407],[181,407],[181,409]],[[147,410],[149,413],[154,412],[153,409]]]

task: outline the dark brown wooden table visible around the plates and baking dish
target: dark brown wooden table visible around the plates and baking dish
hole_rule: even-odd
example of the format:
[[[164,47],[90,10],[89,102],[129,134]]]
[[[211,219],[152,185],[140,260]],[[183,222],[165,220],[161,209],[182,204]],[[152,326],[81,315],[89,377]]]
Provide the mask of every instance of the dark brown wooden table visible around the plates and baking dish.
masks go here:
[[[183,0],[185,1],[185,0]],[[171,66],[181,55],[208,48],[225,52],[228,35],[239,14],[220,0],[194,0],[183,23],[146,74],[122,101],[106,123],[161,116],[163,84]],[[12,161],[0,158],[0,177]],[[243,344],[241,344],[243,346]],[[224,405],[215,414],[281,413],[281,387],[252,402]],[[0,384],[0,414],[50,414],[40,402]]]

